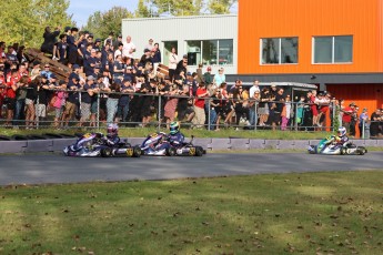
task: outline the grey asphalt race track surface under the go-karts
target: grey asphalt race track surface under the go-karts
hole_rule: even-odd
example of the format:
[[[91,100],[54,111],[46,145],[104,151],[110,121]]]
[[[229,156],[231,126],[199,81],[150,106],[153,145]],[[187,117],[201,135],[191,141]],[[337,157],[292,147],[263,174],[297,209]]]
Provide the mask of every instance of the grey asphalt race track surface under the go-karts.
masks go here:
[[[383,152],[371,152],[363,156],[208,153],[202,157],[141,156],[139,159],[85,159],[59,154],[0,155],[0,185],[382,170],[382,159]]]

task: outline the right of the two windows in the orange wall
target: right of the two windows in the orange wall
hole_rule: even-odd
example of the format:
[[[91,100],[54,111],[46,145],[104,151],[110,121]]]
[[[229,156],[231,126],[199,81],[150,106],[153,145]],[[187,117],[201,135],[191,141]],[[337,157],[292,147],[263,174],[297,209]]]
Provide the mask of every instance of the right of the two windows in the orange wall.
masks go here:
[[[315,37],[313,38],[314,63],[351,63],[353,38]]]

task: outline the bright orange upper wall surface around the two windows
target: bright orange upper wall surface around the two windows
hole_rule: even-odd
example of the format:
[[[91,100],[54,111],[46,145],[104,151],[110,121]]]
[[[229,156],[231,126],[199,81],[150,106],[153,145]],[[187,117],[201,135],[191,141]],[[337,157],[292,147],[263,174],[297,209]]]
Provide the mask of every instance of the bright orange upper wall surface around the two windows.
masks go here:
[[[239,0],[240,74],[383,71],[382,0]],[[353,63],[312,64],[312,37],[353,35]],[[261,38],[299,38],[298,64],[260,64]]]

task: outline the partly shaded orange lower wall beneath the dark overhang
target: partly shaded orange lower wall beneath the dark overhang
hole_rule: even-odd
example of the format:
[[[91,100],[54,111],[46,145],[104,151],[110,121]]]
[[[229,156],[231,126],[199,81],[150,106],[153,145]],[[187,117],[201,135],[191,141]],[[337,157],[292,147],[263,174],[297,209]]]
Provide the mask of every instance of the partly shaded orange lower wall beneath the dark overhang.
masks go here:
[[[336,99],[344,99],[345,105],[355,102],[373,113],[376,108],[383,108],[383,84],[326,84],[326,90]]]

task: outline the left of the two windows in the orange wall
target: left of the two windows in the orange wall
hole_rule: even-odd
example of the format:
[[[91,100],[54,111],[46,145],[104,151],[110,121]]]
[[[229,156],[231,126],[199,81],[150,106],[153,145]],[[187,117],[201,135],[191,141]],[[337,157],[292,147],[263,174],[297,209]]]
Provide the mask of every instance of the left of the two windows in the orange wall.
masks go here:
[[[298,38],[261,39],[261,64],[298,63]]]

